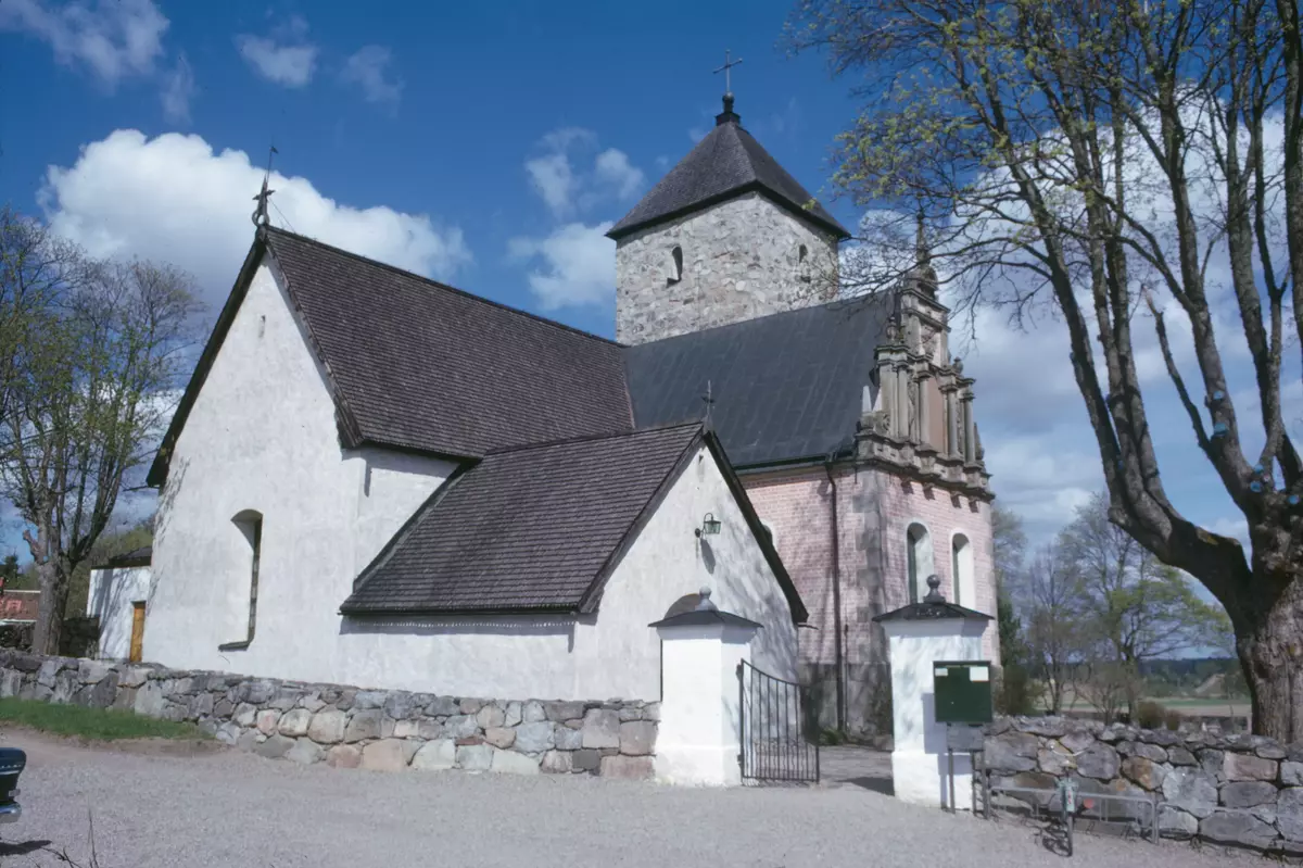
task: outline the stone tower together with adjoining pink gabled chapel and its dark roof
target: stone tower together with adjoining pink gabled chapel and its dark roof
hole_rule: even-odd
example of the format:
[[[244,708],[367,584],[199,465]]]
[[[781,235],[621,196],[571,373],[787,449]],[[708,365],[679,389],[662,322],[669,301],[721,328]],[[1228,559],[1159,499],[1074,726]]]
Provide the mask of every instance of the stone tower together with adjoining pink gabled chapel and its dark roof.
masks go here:
[[[995,614],[992,493],[973,381],[920,237],[893,291],[837,297],[848,233],[741,126],[715,128],[607,233],[638,425],[711,420],[809,610],[820,725],[890,731],[873,616],[946,600]],[[995,628],[982,639],[998,665]]]

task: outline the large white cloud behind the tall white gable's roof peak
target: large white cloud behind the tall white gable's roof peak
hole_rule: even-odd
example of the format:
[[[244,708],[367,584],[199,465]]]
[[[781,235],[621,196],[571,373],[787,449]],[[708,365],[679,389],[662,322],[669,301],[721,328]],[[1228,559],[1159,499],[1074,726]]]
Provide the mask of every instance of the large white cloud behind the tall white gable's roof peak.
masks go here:
[[[245,152],[214,151],[199,136],[122,129],[82,147],[73,166],[50,167],[39,201],[60,235],[95,255],[185,268],[216,308],[253,240],[251,197],[262,175]],[[470,262],[461,229],[429,215],[341,205],[308,179],[279,172],[271,186],[276,225],[440,279]]]

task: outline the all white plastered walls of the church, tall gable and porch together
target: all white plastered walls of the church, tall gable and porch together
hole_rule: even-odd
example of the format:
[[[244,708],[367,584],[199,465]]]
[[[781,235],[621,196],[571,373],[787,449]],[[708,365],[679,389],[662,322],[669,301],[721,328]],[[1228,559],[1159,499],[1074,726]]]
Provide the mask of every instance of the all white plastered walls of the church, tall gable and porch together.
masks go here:
[[[758,665],[795,674],[787,601],[705,450],[618,564],[595,618],[343,619],[353,579],[452,470],[341,450],[326,373],[265,262],[173,450],[145,658],[444,695],[654,700],[659,645],[648,624],[710,585],[721,607],[765,624]],[[223,652],[248,633],[251,551],[233,519],[249,511],[262,516],[255,635]],[[713,571],[692,533],[706,512],[722,520],[706,541]]]

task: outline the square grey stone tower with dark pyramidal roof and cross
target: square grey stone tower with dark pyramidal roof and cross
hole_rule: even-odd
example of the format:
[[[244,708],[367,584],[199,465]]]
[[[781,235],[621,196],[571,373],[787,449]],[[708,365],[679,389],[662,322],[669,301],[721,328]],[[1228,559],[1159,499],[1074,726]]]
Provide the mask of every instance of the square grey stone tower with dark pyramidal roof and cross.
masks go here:
[[[615,339],[641,344],[830,300],[850,237],[734,112],[607,236]]]

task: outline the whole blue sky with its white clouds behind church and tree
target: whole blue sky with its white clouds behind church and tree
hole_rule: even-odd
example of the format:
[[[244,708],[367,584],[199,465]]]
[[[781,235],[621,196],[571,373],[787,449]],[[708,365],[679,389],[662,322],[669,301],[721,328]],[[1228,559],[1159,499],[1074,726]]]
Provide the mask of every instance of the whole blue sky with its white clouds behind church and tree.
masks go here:
[[[0,198],[98,255],[172,261],[215,313],[274,142],[278,225],[611,335],[602,233],[710,128],[726,48],[743,124],[857,223],[827,181],[851,82],[784,55],[790,8],[0,0]],[[1101,484],[1062,330],[976,325],[955,347],[994,486],[1044,540]],[[1173,498],[1242,534],[1151,368]]]

